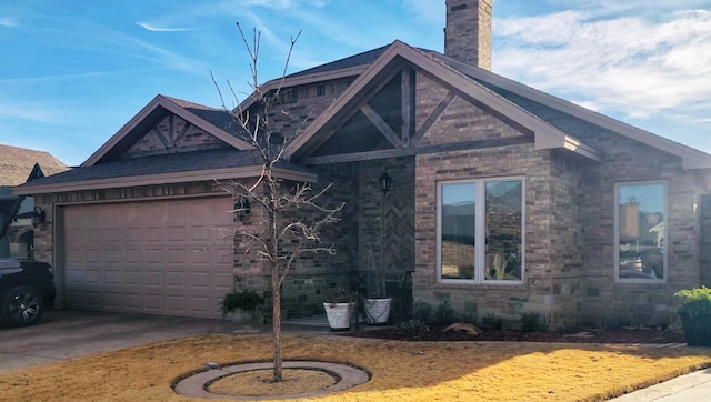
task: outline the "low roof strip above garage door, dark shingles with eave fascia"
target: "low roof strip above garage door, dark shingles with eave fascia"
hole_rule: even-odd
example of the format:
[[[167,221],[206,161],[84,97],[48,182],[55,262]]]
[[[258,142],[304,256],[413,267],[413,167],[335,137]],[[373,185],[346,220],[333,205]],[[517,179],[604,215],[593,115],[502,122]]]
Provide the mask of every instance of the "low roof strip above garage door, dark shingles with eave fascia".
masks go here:
[[[254,178],[261,174],[261,169],[257,150],[226,148],[120,159],[37,179],[13,190],[16,194],[42,194]],[[280,161],[274,171],[279,178],[287,180],[313,182],[317,179],[317,174],[308,169],[287,161]]]

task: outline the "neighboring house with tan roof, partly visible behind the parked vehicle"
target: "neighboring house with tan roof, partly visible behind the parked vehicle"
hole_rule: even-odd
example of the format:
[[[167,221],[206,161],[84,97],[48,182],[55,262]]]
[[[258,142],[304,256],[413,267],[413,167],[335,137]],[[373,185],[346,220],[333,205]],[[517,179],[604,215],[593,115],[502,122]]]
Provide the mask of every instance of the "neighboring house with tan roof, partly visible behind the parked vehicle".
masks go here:
[[[32,197],[14,195],[12,187],[67,169],[48,152],[0,144],[0,257],[32,258],[32,217],[41,218]]]

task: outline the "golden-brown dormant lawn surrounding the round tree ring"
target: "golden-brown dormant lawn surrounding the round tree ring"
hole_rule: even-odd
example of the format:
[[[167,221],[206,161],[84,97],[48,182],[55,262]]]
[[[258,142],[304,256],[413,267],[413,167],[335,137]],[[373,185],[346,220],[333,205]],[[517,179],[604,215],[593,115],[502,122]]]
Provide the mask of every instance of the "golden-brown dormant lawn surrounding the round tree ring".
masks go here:
[[[286,335],[283,350],[287,359],[348,362],[372,374],[309,401],[597,401],[711,365],[711,349],[697,348]],[[0,399],[191,401],[171,383],[202,362],[270,358],[264,334],[184,338],[0,374]]]

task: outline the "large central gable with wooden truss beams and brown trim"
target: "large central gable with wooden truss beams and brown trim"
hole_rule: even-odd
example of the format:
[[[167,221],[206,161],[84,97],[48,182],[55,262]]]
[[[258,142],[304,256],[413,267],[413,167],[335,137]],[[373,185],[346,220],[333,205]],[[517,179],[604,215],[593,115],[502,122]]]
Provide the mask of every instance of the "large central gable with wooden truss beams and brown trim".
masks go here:
[[[421,91],[431,93],[421,96]],[[462,114],[464,109],[468,112]],[[441,119],[458,118],[462,118],[462,124],[467,124],[468,118],[487,119],[484,127],[507,124],[513,128],[509,131],[517,133],[457,137],[447,132],[443,140],[428,138]],[[329,110],[289,144],[286,157],[306,164],[323,164],[524,142],[533,142],[535,149],[561,148],[593,161],[602,159],[592,147],[425,52],[395,41]]]

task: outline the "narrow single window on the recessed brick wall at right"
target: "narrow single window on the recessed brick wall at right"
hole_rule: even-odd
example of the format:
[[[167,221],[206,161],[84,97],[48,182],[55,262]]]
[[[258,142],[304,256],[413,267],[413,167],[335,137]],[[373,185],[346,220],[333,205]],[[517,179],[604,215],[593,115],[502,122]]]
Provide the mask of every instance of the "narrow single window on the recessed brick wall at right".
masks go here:
[[[660,282],[667,278],[664,183],[617,184],[614,272],[622,282]]]

